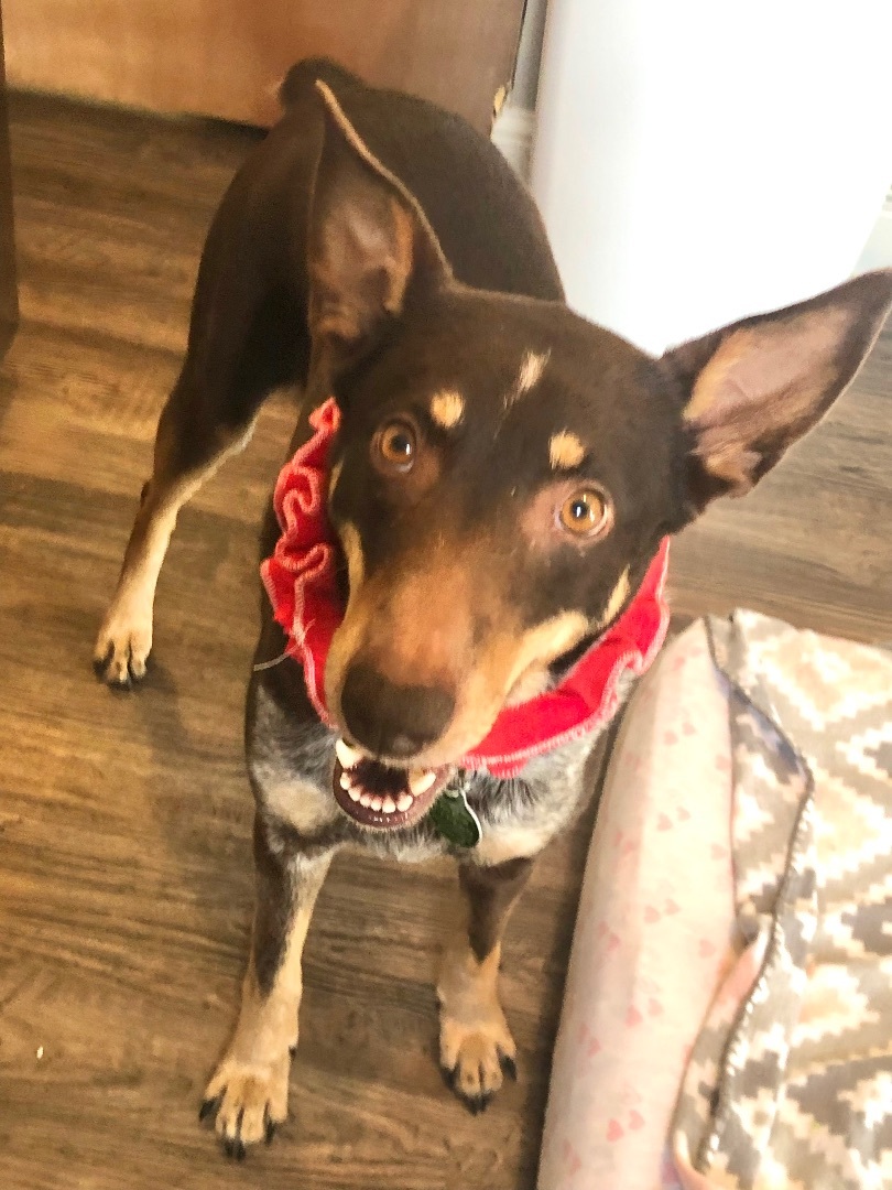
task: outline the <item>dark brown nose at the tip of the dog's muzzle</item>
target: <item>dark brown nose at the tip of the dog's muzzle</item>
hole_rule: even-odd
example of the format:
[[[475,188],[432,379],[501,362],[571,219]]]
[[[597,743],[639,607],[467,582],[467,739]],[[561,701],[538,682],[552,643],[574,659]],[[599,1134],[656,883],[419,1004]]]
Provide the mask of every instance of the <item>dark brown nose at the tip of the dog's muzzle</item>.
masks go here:
[[[396,685],[359,662],[347,672],[340,708],[347,732],[366,751],[412,757],[442,735],[456,700],[435,685]]]

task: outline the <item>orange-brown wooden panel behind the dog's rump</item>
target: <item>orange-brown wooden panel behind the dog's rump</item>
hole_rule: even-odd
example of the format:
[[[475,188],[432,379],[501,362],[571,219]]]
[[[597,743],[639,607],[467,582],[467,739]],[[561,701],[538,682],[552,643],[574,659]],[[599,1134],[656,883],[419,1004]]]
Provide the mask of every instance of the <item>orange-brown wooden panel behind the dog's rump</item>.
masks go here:
[[[11,83],[271,124],[276,84],[323,54],[489,129],[523,0],[5,0]]]

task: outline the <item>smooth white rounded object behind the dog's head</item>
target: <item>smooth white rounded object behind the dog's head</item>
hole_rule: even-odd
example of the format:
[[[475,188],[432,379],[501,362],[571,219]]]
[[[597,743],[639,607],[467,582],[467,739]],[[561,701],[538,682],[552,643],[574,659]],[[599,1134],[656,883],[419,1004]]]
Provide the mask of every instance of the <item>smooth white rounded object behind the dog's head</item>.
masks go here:
[[[892,181],[892,4],[549,0],[533,192],[651,351],[846,278]]]

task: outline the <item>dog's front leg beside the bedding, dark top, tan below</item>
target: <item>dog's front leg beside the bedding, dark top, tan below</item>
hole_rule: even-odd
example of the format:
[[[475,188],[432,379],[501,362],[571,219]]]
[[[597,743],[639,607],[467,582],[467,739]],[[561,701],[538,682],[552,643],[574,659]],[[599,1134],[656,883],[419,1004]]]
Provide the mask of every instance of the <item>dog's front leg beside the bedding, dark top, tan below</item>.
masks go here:
[[[502,934],[527,883],[533,860],[490,868],[461,864],[467,925],[447,947],[436,996],[440,1002],[440,1065],[456,1095],[476,1115],[516,1077],[514,1038],[498,1001]]]

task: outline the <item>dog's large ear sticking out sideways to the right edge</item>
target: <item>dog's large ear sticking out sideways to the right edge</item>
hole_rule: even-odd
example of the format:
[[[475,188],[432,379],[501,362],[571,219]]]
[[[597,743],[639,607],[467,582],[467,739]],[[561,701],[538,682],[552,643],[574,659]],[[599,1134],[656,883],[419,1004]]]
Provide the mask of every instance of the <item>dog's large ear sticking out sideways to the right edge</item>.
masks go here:
[[[691,516],[743,495],[847,388],[892,303],[892,270],[867,273],[662,357],[681,384]]]

